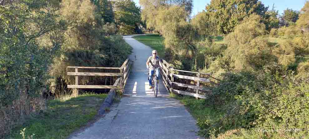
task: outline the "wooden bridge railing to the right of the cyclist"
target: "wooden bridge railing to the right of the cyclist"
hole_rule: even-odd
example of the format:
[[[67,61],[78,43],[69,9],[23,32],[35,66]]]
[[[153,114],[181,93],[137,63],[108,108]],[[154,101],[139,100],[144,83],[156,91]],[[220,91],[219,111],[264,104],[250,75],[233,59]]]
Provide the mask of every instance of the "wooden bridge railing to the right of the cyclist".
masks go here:
[[[201,82],[204,83],[204,84],[205,83],[206,84],[207,83],[209,83],[209,84],[215,83],[215,82],[211,81],[209,78],[201,78],[201,75],[206,75],[206,76],[210,77],[211,74],[174,69],[165,60],[163,60],[163,63],[161,63],[161,65],[163,66],[162,70],[161,70],[161,77],[164,80],[164,83],[166,84],[166,86],[167,86],[167,88],[169,89],[170,92],[179,93],[179,94],[183,94],[183,95],[189,95],[189,96],[193,96],[193,97],[196,97],[196,98],[206,98],[206,95],[200,94],[200,91],[209,92],[210,90],[206,89],[205,87],[202,87]],[[179,73],[180,72],[186,72],[186,73],[190,73],[190,74],[196,74],[196,77],[175,74],[176,72],[179,72]],[[191,85],[191,84],[178,83],[178,82],[175,81],[176,79],[194,80],[196,82],[196,84]],[[214,79],[214,80],[217,80],[217,79]],[[188,88],[189,89],[195,89],[195,93],[177,90],[177,89],[175,89],[176,86],[184,87],[184,88],[187,88],[187,89]]]

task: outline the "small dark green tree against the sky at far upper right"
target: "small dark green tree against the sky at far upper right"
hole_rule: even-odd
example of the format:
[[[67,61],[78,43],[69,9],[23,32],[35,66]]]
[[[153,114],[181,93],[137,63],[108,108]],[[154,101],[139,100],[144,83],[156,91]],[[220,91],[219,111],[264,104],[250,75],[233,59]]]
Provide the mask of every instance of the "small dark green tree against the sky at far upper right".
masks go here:
[[[295,25],[295,22],[298,20],[298,16],[298,11],[287,8],[283,11],[282,16],[280,17],[280,26]]]

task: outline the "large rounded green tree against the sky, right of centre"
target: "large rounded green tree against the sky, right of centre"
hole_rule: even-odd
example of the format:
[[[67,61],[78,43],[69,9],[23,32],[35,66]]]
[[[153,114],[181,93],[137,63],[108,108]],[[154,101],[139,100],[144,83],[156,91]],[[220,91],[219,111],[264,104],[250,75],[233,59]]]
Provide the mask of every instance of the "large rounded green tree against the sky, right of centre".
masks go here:
[[[212,0],[206,6],[206,12],[217,19],[217,31],[223,34],[232,32],[236,25],[253,13],[266,18],[267,9],[258,0]]]

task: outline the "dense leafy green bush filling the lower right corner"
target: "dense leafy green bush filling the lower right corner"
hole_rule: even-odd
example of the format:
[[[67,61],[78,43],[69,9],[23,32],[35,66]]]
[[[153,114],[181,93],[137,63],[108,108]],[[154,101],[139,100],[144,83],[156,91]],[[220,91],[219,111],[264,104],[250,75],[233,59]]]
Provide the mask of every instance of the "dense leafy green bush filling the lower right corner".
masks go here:
[[[295,79],[293,75],[282,77],[267,73],[256,75],[247,71],[222,76],[220,85],[212,89],[212,96],[205,102],[225,114],[208,122],[202,133],[218,134],[241,127],[263,132],[258,137],[276,138],[279,134],[283,137],[308,136],[307,130],[292,132],[307,129],[309,125],[308,78]]]

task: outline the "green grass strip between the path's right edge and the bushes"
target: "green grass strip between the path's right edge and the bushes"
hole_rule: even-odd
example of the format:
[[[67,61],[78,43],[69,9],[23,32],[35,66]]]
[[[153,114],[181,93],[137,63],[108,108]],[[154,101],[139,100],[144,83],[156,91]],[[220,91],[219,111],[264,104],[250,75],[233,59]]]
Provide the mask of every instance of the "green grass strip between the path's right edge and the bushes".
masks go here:
[[[206,107],[204,99],[196,99],[191,96],[180,96],[173,93],[170,93],[170,97],[180,100],[180,102],[186,106],[189,113],[191,113],[197,121],[197,125],[200,128],[200,136],[205,136],[205,132],[209,132],[205,131],[205,129],[208,129],[213,121],[218,121],[218,119],[223,116],[223,113]]]

